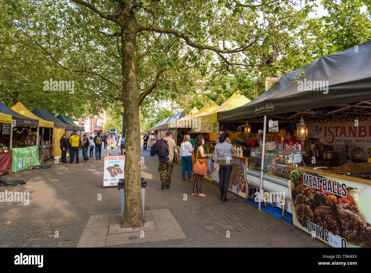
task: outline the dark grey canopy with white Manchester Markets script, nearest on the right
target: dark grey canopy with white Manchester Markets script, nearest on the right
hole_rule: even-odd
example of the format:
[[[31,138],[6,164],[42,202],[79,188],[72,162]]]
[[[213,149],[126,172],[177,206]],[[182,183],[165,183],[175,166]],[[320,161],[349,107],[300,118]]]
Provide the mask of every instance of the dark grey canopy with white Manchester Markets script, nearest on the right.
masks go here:
[[[371,40],[320,57],[309,65],[281,77],[252,102],[236,109],[219,112],[218,121],[369,101],[371,100],[370,59]],[[299,70],[305,73],[305,77],[301,76]]]

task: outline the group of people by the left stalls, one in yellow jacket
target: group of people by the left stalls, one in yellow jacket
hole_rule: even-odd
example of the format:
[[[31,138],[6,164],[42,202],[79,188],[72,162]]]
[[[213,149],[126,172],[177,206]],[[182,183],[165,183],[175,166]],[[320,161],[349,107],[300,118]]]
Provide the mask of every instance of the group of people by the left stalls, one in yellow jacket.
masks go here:
[[[125,155],[125,138],[122,137],[122,132],[115,138],[116,144],[114,143],[114,139],[112,134],[104,133],[101,135],[101,132],[97,132],[96,135],[93,133],[86,133],[82,135],[82,139],[77,134],[76,130],[73,130],[70,137],[67,134],[63,134],[63,137],[60,138],[60,149],[62,151],[61,161],[62,163],[67,162],[67,152],[70,155],[70,164],[76,159],[76,163],[79,163],[79,150],[82,150],[82,162],[89,162],[89,157],[94,156],[95,150],[95,158],[96,160],[101,159],[102,154],[102,145],[104,149],[107,151],[107,156],[111,155],[112,149],[115,146],[118,147],[119,155]],[[89,149],[89,156],[88,156],[88,149]]]

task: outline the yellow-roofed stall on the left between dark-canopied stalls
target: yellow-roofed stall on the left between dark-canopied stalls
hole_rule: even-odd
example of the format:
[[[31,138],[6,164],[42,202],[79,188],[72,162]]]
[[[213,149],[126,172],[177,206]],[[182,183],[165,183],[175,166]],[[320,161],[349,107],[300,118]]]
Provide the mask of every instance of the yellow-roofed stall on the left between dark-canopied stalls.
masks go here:
[[[53,158],[52,152],[52,141],[53,141],[53,128],[54,123],[50,121],[46,121],[34,114],[32,114],[21,102],[17,102],[13,105],[10,109],[16,111],[17,113],[27,116],[29,118],[37,119],[39,121],[38,124],[38,139],[36,141],[37,144],[41,144],[41,139],[43,139],[42,150],[40,150],[40,154],[44,155],[44,160]],[[40,145],[41,147],[41,145]]]

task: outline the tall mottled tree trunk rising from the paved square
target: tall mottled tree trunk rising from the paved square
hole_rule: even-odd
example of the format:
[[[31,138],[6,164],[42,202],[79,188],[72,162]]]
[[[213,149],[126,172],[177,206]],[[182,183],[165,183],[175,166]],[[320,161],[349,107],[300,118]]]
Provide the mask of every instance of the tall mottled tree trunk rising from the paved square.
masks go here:
[[[126,127],[125,211],[121,227],[144,226],[140,170],[140,131],[137,99],[137,22],[134,10],[119,20],[122,53],[122,102]]]

